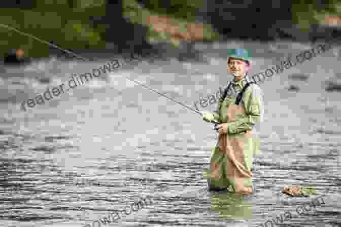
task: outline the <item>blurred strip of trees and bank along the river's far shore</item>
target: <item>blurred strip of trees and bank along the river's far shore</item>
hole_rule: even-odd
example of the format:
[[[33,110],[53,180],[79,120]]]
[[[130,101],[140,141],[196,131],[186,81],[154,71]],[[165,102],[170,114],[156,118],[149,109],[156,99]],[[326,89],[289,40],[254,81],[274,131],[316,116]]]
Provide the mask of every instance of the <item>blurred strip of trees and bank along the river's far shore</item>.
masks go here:
[[[106,42],[111,42],[119,51],[148,46],[147,41],[153,40],[178,46],[180,40],[192,39],[199,30],[203,30],[203,40],[218,39],[210,24],[228,37],[267,40],[276,36],[279,20],[309,29],[322,23],[326,15],[341,15],[341,0],[16,0],[1,5],[2,24],[62,48],[105,48]],[[205,12],[209,21],[197,26],[200,12]],[[5,27],[0,27],[0,35],[3,55],[23,48],[26,55],[43,57],[51,50]]]

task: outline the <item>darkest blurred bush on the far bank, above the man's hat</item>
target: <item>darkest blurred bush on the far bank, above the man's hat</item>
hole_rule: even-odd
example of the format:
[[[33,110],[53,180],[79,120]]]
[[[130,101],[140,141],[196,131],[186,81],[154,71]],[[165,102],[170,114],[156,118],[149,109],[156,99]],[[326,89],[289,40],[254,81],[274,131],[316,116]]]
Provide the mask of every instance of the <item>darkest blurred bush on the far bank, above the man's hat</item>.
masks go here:
[[[292,20],[291,1],[212,0],[210,22],[227,39],[274,40],[277,28]],[[271,18],[271,19],[269,19]]]

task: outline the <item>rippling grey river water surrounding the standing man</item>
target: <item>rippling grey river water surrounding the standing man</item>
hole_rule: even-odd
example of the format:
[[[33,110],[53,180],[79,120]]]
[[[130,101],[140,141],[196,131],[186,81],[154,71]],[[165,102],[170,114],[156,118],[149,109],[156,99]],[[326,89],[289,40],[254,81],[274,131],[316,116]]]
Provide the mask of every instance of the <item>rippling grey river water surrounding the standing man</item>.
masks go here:
[[[286,211],[292,212],[286,226],[341,226],[340,93],[324,89],[340,69],[336,49],[261,84],[265,119],[261,154],[254,157],[255,193],[243,198],[207,192],[203,171],[217,141],[213,125],[122,77],[194,108],[232,79],[226,49],[243,46],[254,52],[254,73],[310,48],[198,44],[207,62],[134,61],[26,112],[22,101],[114,56],[50,58],[1,73],[0,226],[83,226],[141,197],[153,205],[110,226],[256,226]],[[299,215],[296,207],[316,196],[289,198],[280,193],[286,185],[314,186],[325,204]]]

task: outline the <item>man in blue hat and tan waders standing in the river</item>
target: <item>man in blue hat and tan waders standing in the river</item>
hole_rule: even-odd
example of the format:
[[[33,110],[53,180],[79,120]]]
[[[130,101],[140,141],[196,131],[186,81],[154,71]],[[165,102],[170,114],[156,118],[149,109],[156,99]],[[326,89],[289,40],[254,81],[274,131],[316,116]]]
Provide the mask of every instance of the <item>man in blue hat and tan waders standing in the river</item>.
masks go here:
[[[214,113],[203,113],[203,120],[218,122],[219,141],[211,156],[209,190],[252,194],[253,154],[259,150],[256,128],[263,118],[262,93],[251,82],[247,71],[251,58],[245,49],[230,49],[228,71],[233,75]]]

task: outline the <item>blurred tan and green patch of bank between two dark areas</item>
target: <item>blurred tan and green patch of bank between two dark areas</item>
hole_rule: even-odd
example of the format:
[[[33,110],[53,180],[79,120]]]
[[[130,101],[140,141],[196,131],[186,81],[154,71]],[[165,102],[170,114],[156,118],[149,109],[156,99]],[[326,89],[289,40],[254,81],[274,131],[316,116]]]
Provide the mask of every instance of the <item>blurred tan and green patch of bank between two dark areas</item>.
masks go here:
[[[178,0],[124,0],[123,17],[146,26],[149,41],[168,41],[179,47],[179,42],[184,40],[217,40],[219,35],[210,24],[197,24],[196,16],[202,5],[203,0],[184,0],[183,4]]]

